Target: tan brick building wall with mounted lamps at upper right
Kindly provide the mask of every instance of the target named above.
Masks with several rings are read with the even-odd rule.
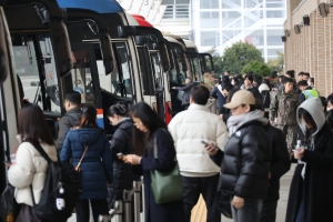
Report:
[[[323,97],[333,92],[333,10],[330,3],[329,0],[289,0],[283,37],[285,70],[309,72]]]

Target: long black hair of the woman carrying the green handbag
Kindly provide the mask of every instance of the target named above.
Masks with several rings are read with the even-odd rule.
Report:
[[[157,132],[158,129],[168,129],[162,118],[145,102],[139,102],[130,110],[131,118],[139,118],[148,132],[142,132],[134,128],[133,147],[138,154],[143,154],[147,141]]]

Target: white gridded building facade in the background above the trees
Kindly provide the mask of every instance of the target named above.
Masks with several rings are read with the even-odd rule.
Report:
[[[223,54],[233,43],[248,41],[265,60],[283,52],[285,0],[192,0],[191,14],[192,38],[200,51],[214,47]]]

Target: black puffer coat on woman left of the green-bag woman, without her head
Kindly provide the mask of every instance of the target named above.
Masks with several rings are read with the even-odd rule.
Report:
[[[125,119],[119,123],[111,141],[111,153],[113,160],[113,182],[109,186],[109,205],[114,200],[122,200],[123,190],[131,190],[133,181],[140,180],[139,175],[132,173],[132,165],[125,164],[119,160],[117,153],[131,154],[134,153],[132,145],[132,128],[133,123],[130,119]]]

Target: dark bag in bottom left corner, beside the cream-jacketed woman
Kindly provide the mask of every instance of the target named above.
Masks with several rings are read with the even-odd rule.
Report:
[[[2,221],[16,221],[21,211],[21,205],[16,201],[14,191],[16,188],[8,184],[1,194],[0,219]]]

